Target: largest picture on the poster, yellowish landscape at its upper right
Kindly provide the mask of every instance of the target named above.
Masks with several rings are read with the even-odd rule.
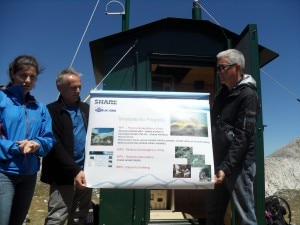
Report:
[[[207,114],[174,112],[170,121],[171,136],[208,137]]]

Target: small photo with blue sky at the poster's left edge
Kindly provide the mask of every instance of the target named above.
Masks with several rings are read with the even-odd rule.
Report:
[[[92,128],[91,145],[113,146],[114,128]]]

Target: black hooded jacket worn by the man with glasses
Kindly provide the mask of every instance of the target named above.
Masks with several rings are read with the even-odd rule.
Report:
[[[232,90],[223,86],[215,98],[211,126],[215,169],[226,176],[255,162],[255,129],[260,103],[255,80],[244,74]]]

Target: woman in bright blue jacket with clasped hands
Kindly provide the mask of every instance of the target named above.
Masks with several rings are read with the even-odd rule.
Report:
[[[45,105],[30,91],[41,73],[32,56],[9,66],[11,82],[0,91],[0,224],[22,225],[35,189],[40,157],[55,138]]]

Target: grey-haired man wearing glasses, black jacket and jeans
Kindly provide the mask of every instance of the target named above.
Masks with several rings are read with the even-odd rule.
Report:
[[[244,74],[245,58],[235,49],[217,55],[222,84],[211,112],[215,188],[209,191],[206,225],[222,225],[228,202],[240,225],[257,225],[253,182],[256,173],[255,127],[260,103],[256,82]]]

